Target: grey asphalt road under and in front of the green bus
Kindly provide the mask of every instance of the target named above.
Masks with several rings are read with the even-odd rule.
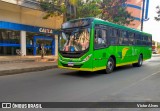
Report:
[[[140,68],[131,65],[118,67],[111,74],[105,74],[103,71],[89,73],[52,69],[0,76],[0,101],[160,102],[160,56],[145,61]],[[87,111],[94,110],[96,109],[87,109]],[[130,110],[132,111],[132,109],[126,111]]]

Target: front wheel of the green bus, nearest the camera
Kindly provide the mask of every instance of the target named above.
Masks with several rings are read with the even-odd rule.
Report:
[[[109,73],[113,72],[114,67],[115,67],[115,61],[113,60],[112,57],[110,57],[107,61],[106,73],[109,74]]]

